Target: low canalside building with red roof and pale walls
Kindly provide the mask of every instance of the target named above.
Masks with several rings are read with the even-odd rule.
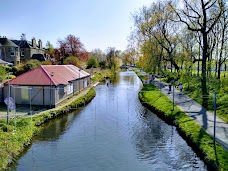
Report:
[[[90,84],[90,74],[74,65],[41,65],[9,81],[16,104],[54,107]],[[4,99],[8,82],[4,84]]]

